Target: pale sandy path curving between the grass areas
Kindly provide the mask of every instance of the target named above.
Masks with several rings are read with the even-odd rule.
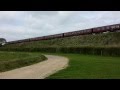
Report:
[[[43,62],[0,73],[0,79],[44,79],[68,66],[68,58],[45,55]]]

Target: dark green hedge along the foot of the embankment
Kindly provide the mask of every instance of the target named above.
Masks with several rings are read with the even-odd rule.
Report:
[[[43,48],[0,48],[1,51],[27,51],[48,53],[80,53],[101,56],[120,56],[120,47],[43,47]]]

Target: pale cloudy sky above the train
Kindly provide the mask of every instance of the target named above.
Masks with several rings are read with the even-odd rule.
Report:
[[[120,23],[120,11],[0,11],[0,38],[14,41]]]

